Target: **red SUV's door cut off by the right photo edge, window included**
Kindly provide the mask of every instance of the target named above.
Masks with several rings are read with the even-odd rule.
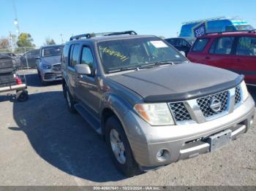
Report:
[[[244,74],[247,83],[256,84],[256,37],[239,36],[236,42],[234,71]]]

